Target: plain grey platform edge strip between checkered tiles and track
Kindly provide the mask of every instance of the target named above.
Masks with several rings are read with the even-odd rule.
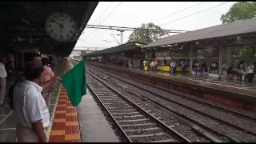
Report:
[[[77,110],[82,142],[119,142],[88,89]]]

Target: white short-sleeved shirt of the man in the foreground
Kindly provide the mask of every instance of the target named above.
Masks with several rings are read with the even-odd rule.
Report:
[[[18,125],[31,128],[31,123],[42,121],[43,127],[49,126],[50,114],[41,92],[41,86],[28,80],[14,87],[14,115]]]

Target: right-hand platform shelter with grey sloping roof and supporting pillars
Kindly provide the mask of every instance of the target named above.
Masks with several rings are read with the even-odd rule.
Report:
[[[194,74],[195,61],[206,61],[208,66],[211,62],[216,62],[217,77],[222,78],[223,70],[238,60],[239,54],[236,50],[255,46],[255,34],[256,19],[253,18],[171,35],[143,46],[142,51],[163,61],[160,62],[163,67],[170,66],[172,59],[189,60],[190,75]],[[252,53],[252,58],[255,60],[256,52],[252,51]],[[203,54],[207,58],[203,57]],[[249,60],[248,63],[252,63],[251,61]],[[168,71],[166,68],[162,70]]]

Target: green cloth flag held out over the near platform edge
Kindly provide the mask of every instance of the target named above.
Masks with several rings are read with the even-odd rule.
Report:
[[[62,76],[62,85],[66,89],[67,95],[73,106],[78,106],[82,96],[86,94],[85,72],[85,62],[82,60],[82,62],[79,62]]]

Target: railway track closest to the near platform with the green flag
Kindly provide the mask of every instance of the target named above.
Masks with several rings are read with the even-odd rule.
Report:
[[[122,132],[127,142],[190,142],[164,122],[143,110],[106,82],[88,73],[88,88],[110,118]]]

